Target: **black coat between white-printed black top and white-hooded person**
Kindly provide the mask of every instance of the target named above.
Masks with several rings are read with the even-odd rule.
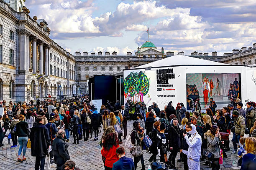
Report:
[[[168,140],[169,140],[169,148],[172,147],[173,149],[170,150],[171,152],[179,152],[179,134],[180,128],[179,125],[176,127],[172,124],[168,130]]]

